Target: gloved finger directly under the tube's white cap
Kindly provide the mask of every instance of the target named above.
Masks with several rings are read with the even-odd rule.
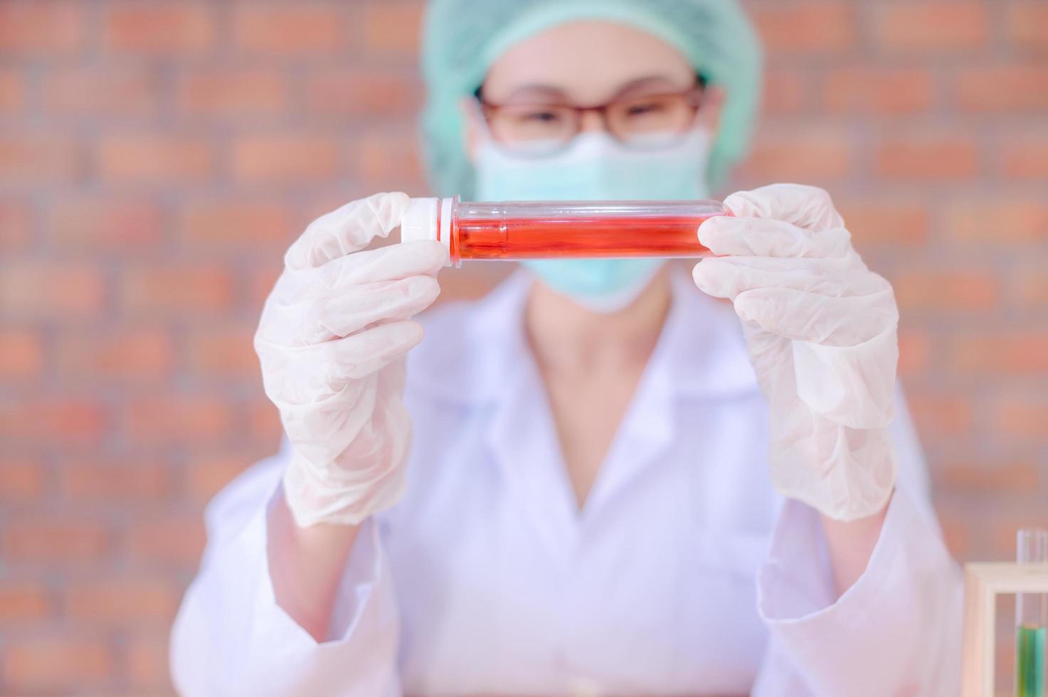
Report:
[[[355,292],[355,287],[412,276],[436,276],[447,262],[447,248],[440,242],[418,240],[365,249],[325,264],[316,274],[315,290]]]

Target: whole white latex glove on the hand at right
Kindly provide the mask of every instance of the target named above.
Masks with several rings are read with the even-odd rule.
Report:
[[[768,400],[776,488],[838,520],[878,513],[895,482],[898,310],[822,189],[773,184],[728,196],[699,241],[700,289],[742,320]]]

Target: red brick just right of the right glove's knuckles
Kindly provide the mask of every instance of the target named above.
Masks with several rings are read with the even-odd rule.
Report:
[[[892,285],[903,311],[977,312],[994,309],[1001,299],[997,275],[989,271],[908,273],[897,276]]]

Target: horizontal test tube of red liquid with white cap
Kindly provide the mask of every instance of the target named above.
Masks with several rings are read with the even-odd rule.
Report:
[[[720,201],[460,201],[415,198],[400,240],[437,240],[449,263],[610,257],[703,257],[698,230]]]

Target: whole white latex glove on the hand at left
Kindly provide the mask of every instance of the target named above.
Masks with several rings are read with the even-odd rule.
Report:
[[[439,295],[447,253],[439,242],[359,249],[408,202],[376,194],[314,220],[262,310],[255,350],[293,450],[284,496],[299,525],[359,523],[402,493],[403,355],[422,339],[410,318]]]

